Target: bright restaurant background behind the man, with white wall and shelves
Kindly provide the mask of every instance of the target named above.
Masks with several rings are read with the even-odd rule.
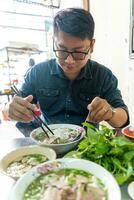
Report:
[[[4,119],[2,107],[12,98],[10,84],[20,86],[29,68],[29,59],[38,63],[54,56],[52,20],[54,14],[65,7],[83,7],[93,14],[96,44],[92,59],[109,67],[118,77],[133,124],[134,0],[0,1],[1,120]]]

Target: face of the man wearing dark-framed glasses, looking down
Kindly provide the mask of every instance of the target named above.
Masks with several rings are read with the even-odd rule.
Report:
[[[59,56],[57,58],[57,62],[60,67],[63,69],[65,75],[67,77],[70,76],[77,76],[81,69],[85,66],[90,55],[93,51],[94,40],[89,39],[80,39],[78,37],[70,36],[67,33],[59,31],[58,34],[54,37],[54,49],[60,50],[59,54],[62,54],[62,51],[69,51],[69,52],[84,52],[83,54],[84,59],[76,60],[75,56],[73,58],[73,54],[68,54],[66,58],[61,58]]]

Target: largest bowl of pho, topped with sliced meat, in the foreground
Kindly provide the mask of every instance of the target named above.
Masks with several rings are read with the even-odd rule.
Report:
[[[63,158],[26,173],[9,200],[121,200],[120,188],[106,169],[91,161]]]

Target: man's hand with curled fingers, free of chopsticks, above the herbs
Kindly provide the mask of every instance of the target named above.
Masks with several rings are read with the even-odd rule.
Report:
[[[107,121],[112,118],[113,110],[111,106],[105,99],[100,97],[95,97],[90,104],[88,104],[87,109],[89,114],[86,121],[99,123],[103,120]]]

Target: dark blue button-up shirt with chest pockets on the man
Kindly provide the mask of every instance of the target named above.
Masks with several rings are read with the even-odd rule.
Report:
[[[23,95],[33,95],[33,102],[39,103],[48,123],[80,125],[87,117],[87,105],[96,96],[106,99],[114,108],[127,110],[117,78],[111,70],[91,60],[73,81],[64,75],[55,59],[30,68],[24,80]]]

